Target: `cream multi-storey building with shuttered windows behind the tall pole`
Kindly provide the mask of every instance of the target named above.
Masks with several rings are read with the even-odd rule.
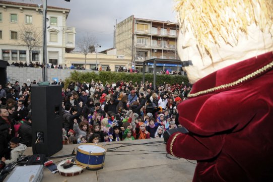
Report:
[[[40,5],[0,1],[0,59],[42,63],[42,12]],[[65,52],[75,48],[75,27],[66,26],[69,13],[47,6],[47,63],[63,64]],[[29,51],[28,45],[35,46]]]

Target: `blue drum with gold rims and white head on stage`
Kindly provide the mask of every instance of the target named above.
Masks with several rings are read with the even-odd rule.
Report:
[[[103,146],[83,143],[77,147],[76,163],[87,169],[101,169],[104,165],[106,148]]]

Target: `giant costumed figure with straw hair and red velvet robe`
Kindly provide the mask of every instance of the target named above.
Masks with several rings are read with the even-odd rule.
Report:
[[[197,161],[193,181],[273,180],[273,1],[178,1],[190,83],[167,152]]]

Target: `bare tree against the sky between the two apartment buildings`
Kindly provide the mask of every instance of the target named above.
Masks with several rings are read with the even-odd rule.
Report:
[[[80,50],[82,54],[85,55],[85,69],[86,69],[86,56],[90,52],[90,48],[96,44],[96,38],[93,36],[89,36],[88,34],[82,36],[77,43],[76,46]]]

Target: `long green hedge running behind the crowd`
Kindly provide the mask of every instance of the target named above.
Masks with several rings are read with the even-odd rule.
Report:
[[[77,72],[74,71],[71,73],[71,76],[69,78],[65,79],[64,87],[67,88],[69,83],[71,82],[77,82],[80,83],[85,82],[91,82],[92,79],[96,81],[101,81],[102,83],[111,83],[111,82],[117,82],[117,81],[132,81],[140,83],[142,81],[143,74],[130,74],[130,73],[123,73],[123,72],[105,72],[101,71],[99,73],[95,72]],[[145,81],[148,80],[148,82],[153,83],[153,74],[145,74]],[[180,76],[180,75],[157,75],[157,85],[163,84],[163,83],[188,83],[188,79],[186,76]]]

